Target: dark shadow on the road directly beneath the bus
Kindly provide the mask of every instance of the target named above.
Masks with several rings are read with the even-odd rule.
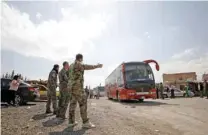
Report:
[[[169,99],[164,99],[164,100],[169,100]],[[112,100],[113,102],[118,102],[116,100]],[[131,107],[135,107],[135,106],[160,106],[160,105],[178,105],[178,104],[169,104],[169,103],[163,103],[163,102],[159,102],[159,101],[143,101],[143,102],[139,102],[139,101],[122,101],[120,102],[123,105],[128,105]]]

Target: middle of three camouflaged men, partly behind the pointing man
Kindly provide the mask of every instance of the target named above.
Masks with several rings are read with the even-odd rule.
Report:
[[[56,114],[57,118],[65,119],[66,110],[69,105],[69,87],[68,87],[68,70],[69,70],[69,63],[63,62],[63,68],[59,72],[59,91],[60,91],[60,98],[59,98],[59,106],[58,111]]]

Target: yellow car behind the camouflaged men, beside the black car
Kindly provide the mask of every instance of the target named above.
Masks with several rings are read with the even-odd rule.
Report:
[[[41,84],[36,84],[40,91],[40,98],[41,100],[47,100],[47,87]],[[56,96],[59,97],[59,87],[56,89]]]

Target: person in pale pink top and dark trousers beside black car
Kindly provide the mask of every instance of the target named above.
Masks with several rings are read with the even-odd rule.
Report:
[[[20,77],[18,75],[15,75],[12,79],[12,82],[10,83],[10,87],[8,91],[9,93],[9,97],[7,100],[8,104],[11,105],[11,101],[12,101],[12,105],[16,106],[15,98],[16,98],[19,85],[20,85]]]

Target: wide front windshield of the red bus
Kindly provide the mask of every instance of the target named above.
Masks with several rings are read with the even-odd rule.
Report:
[[[126,81],[154,80],[152,69],[148,64],[127,64],[125,73]]]

